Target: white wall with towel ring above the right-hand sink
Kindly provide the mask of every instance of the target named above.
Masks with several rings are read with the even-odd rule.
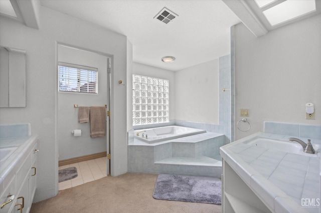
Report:
[[[235,27],[235,120],[249,108],[252,127],[236,128],[236,139],[263,131],[263,121],[321,123],[321,15],[255,37],[244,24]],[[305,119],[305,103],[315,119]]]

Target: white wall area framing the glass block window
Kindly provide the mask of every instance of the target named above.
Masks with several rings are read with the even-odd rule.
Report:
[[[162,69],[162,68],[157,68],[154,66],[149,66],[137,62],[133,62],[132,64],[132,73],[133,74],[140,74],[144,76],[150,76],[150,77],[157,77],[157,78],[162,78],[162,79],[168,79],[170,82],[170,120],[175,119],[175,105],[176,105],[176,98],[175,98],[175,88],[176,88],[176,83],[175,83],[175,76],[174,76],[174,71],[170,71],[167,69]],[[132,85],[130,84],[130,88],[132,88]],[[131,97],[132,97],[132,91],[130,91]],[[132,100],[130,99],[130,102],[128,102],[128,107],[130,108],[130,121],[132,122],[132,116],[131,116],[131,111],[132,111]]]

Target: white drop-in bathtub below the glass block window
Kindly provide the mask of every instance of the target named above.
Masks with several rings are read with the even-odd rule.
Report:
[[[156,128],[137,129],[134,130],[134,137],[147,143],[154,143],[204,132],[206,132],[206,130],[170,125]],[[139,133],[139,135],[137,135],[137,133]],[[142,137],[142,135],[144,135],[144,137]]]

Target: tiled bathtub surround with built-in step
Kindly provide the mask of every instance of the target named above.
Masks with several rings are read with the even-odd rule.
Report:
[[[168,173],[182,175],[221,175],[219,148],[224,145],[224,135],[206,132],[197,135],[145,143],[131,139],[128,133],[128,171]]]

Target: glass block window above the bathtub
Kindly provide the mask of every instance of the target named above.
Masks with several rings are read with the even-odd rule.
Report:
[[[132,75],[132,125],[169,122],[169,80]]]

